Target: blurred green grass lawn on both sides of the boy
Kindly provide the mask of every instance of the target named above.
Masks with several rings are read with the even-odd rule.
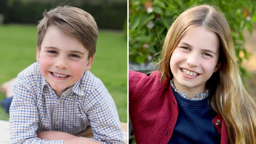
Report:
[[[36,61],[36,40],[35,25],[0,25],[0,85]],[[112,95],[120,121],[127,122],[127,40],[121,32],[99,30],[91,72]],[[1,106],[0,120],[9,120]]]

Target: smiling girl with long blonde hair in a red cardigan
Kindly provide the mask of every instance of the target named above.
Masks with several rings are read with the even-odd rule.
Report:
[[[159,70],[129,71],[136,143],[256,143],[256,105],[240,77],[231,31],[209,5],[192,7],[167,32]]]

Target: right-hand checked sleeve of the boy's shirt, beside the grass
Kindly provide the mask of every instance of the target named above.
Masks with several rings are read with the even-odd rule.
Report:
[[[88,100],[87,114],[95,140],[107,144],[125,144],[116,105],[105,86],[99,84]]]

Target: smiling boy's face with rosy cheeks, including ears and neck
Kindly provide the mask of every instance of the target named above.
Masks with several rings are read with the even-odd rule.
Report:
[[[85,71],[91,69],[93,58],[75,38],[55,26],[49,26],[41,44],[36,49],[39,70],[54,92],[61,94],[79,81]]]

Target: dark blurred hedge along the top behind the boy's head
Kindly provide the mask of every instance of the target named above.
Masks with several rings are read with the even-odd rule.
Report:
[[[44,10],[68,4],[93,15],[99,28],[123,29],[127,22],[127,0],[1,0],[5,23],[36,24]],[[7,3],[7,5],[5,4]],[[7,8],[6,8],[7,7]],[[2,10],[2,11],[1,11]]]

